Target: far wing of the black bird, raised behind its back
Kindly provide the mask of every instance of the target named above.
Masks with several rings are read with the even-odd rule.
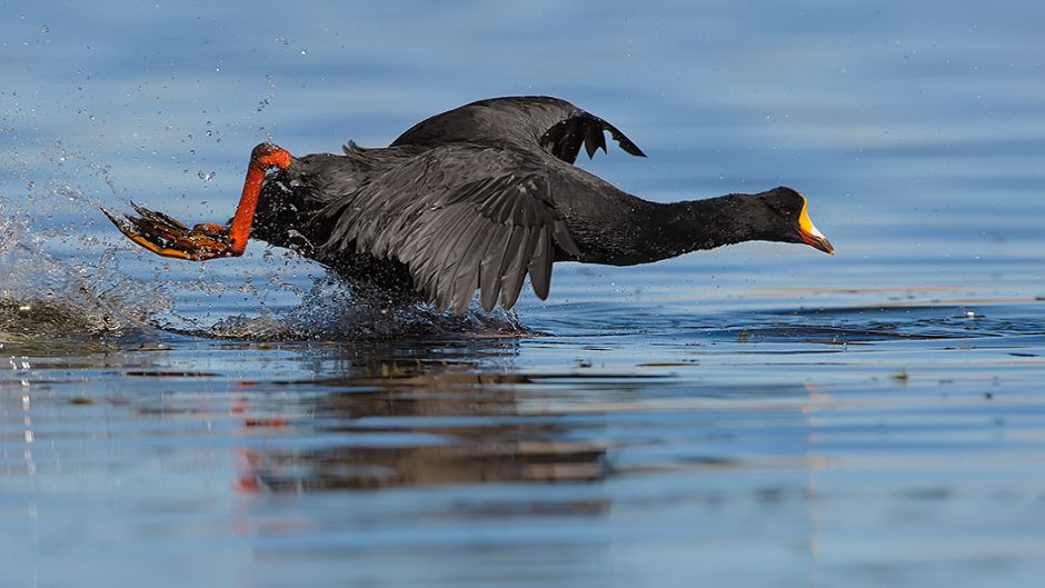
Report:
[[[606,151],[610,136],[633,156],[645,153],[619,129],[574,104],[543,96],[480,100],[426,119],[392,142],[398,146],[435,147],[451,142],[525,143],[536,140],[555,157],[573,163],[581,143],[588,157],[597,149]]]

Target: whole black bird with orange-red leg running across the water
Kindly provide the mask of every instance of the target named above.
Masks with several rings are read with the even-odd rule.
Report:
[[[750,240],[834,252],[790,188],[657,203],[574,167],[581,147],[589,157],[606,151],[607,131],[645,157],[565,100],[494,98],[421,121],[387,148],[349,142],[342,156],[295,158],[261,143],[228,226],[189,229],[138,206],[138,217],[106,213],[161,256],[239,256],[252,236],[455,311],[477,289],[484,309],[498,298],[510,309],[527,275],[545,299],[555,261],[631,266]]]

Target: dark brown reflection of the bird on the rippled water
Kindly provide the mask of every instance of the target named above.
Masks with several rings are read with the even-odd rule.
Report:
[[[522,408],[527,376],[421,359],[354,362],[318,382],[300,444],[246,450],[245,489],[300,492],[600,480],[606,447],[568,439],[554,412]]]

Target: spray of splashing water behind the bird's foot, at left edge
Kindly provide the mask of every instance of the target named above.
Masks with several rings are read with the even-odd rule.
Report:
[[[109,190],[108,168],[82,162],[60,142],[7,153],[0,177],[0,347],[36,352],[97,351],[140,340],[149,315],[169,305],[161,293],[123,276],[90,230],[84,210],[100,200],[80,185],[83,171]],[[34,161],[47,161],[41,166]],[[76,166],[72,179],[68,167]],[[48,169],[41,176],[39,169]],[[102,190],[104,191],[104,190]]]

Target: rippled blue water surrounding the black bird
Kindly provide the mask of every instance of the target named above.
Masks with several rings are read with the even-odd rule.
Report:
[[[1034,586],[1034,2],[0,2],[0,585]],[[516,317],[375,316],[253,243],[250,148],[545,93],[668,201],[802,190],[838,249],[556,267]],[[530,335],[520,335],[529,332]],[[534,333],[538,333],[535,336]]]

